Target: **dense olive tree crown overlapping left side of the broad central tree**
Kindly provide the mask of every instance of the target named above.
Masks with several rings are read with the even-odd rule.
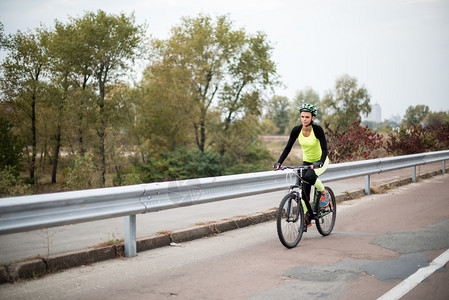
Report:
[[[195,139],[191,128],[196,110],[189,84],[183,68],[155,61],[146,69],[135,91],[136,133],[153,151],[174,151]]]

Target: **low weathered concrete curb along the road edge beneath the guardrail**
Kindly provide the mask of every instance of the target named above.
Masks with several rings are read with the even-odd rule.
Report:
[[[442,171],[432,171],[417,176],[417,179],[430,178],[442,174]],[[399,179],[375,187],[380,189],[391,189],[412,183],[411,178]],[[372,189],[373,191],[375,188]],[[336,195],[337,202],[351,200],[365,196],[364,189],[357,189],[352,192]],[[170,243],[182,243],[208,236],[213,236],[222,232],[235,230],[251,225],[267,222],[276,218],[276,210],[271,209],[258,212],[252,215],[238,216],[231,219],[212,221],[207,224],[181,229],[164,234],[140,238],[137,240],[137,252],[151,250],[155,248],[169,246]],[[0,266],[0,284],[13,283],[23,279],[37,279],[43,275],[66,270],[73,267],[90,265],[96,262],[115,258],[124,258],[124,245],[114,244],[99,246],[96,248],[79,250],[69,253],[52,255],[48,258],[36,257],[34,259],[14,262],[6,266]]]

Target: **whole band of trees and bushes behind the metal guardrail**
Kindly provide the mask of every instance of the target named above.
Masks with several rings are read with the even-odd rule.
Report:
[[[347,74],[321,98],[275,95],[268,36],[229,16],[150,30],[102,10],[8,35],[0,23],[1,197],[270,170],[302,103],[334,163],[448,149],[448,113],[425,105],[362,123],[371,98]]]

